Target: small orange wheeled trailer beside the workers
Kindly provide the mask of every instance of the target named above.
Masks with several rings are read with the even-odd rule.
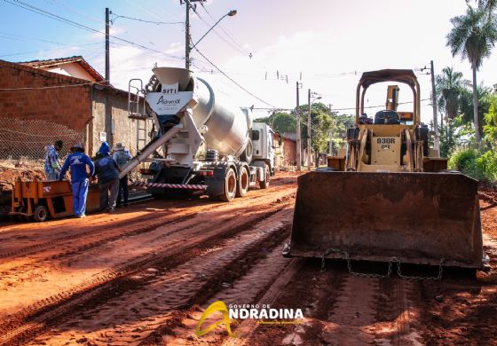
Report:
[[[99,186],[90,185],[86,200],[87,211],[99,210]],[[20,181],[12,189],[12,219],[34,219],[36,222],[48,218],[73,215],[73,192],[71,184],[64,181]]]

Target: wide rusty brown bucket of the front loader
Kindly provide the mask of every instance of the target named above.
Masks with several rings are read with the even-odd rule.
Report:
[[[451,172],[307,173],[284,256],[481,268],[477,181]]]

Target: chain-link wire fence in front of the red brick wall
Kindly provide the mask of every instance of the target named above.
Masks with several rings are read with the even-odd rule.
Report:
[[[58,139],[64,142],[60,157],[67,155],[72,145],[84,145],[83,132],[56,122],[0,118],[0,159],[44,159],[45,146]]]

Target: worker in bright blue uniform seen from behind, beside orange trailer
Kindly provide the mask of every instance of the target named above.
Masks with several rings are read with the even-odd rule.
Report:
[[[93,162],[84,153],[83,145],[76,144],[71,147],[71,154],[67,156],[59,180],[66,175],[67,169],[71,169],[71,188],[73,190],[73,209],[76,217],[84,217],[86,211],[86,196],[88,195],[88,177],[93,175]],[[86,171],[86,166],[90,172]]]

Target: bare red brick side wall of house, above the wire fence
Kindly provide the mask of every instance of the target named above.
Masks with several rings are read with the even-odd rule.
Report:
[[[0,60],[0,116],[58,122],[72,130],[86,130],[91,120],[90,86],[20,89],[82,83],[88,81]]]

